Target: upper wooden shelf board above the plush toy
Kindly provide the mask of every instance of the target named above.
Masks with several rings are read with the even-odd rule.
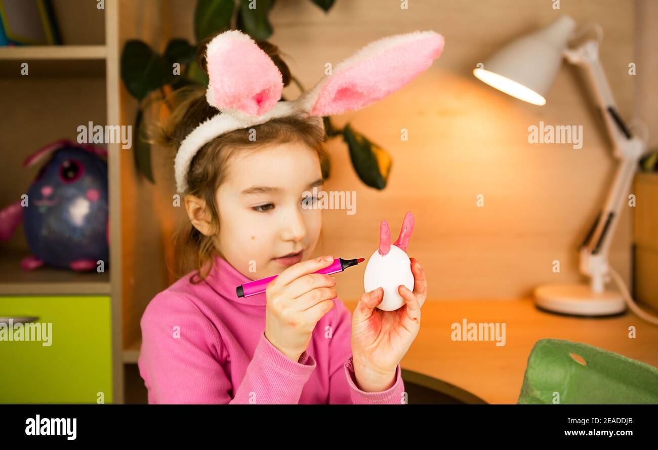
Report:
[[[16,45],[0,47],[0,60],[105,59],[105,45]]]

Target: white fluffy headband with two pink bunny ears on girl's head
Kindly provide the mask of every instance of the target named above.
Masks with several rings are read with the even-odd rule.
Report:
[[[274,61],[238,30],[219,34],[206,49],[206,99],[218,114],[180,144],[174,162],[176,189],[186,191],[192,158],[215,137],[297,111],[321,118],[365,108],[424,72],[441,55],[443,42],[433,31],[382,37],[342,61],[296,100],[279,101],[284,84]]]

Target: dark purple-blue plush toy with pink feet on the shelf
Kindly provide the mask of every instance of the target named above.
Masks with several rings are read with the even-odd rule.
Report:
[[[27,199],[0,211],[0,241],[7,241],[22,219],[32,256],[24,270],[43,264],[76,271],[109,266],[107,151],[66,139],[39,149],[23,162],[47,159],[28,189]]]

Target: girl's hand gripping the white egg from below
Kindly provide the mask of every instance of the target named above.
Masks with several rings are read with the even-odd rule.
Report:
[[[361,295],[352,315],[352,355],[359,388],[385,391],[395,382],[395,369],[420,330],[420,307],[427,298],[427,281],[420,263],[411,260],[413,292],[401,284],[397,291],[405,305],[396,311],[376,309],[384,289]]]

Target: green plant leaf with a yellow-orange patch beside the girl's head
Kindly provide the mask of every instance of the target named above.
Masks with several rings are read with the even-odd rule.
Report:
[[[349,124],[343,128],[343,140],[349,147],[349,157],[361,181],[375,189],[384,189],[393,162],[390,155]]]

